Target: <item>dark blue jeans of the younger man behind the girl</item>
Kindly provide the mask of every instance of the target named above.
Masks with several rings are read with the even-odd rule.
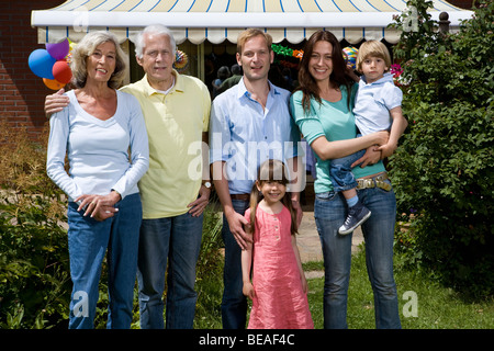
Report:
[[[249,207],[248,201],[232,200],[235,212],[244,215]],[[223,215],[223,242],[225,244],[225,267],[223,269],[223,299],[222,321],[223,329],[245,329],[247,321],[247,298],[242,288],[242,249],[229,231],[228,222]]]

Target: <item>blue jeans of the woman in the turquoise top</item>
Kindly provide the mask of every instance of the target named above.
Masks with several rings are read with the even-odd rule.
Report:
[[[388,181],[389,182],[389,181]],[[393,237],[396,200],[393,190],[379,188],[358,190],[372,216],[362,224],[366,262],[374,295],[377,328],[401,328],[396,285],[393,278]],[[316,194],[314,217],[323,246],[324,327],[347,328],[347,298],[351,264],[351,234],[338,235],[347,216],[341,194]]]

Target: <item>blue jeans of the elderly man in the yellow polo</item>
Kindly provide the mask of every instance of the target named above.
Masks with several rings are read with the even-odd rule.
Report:
[[[193,217],[189,213],[143,219],[137,272],[142,329],[165,327],[162,294],[167,265],[166,328],[193,328],[198,299],[195,264],[201,249],[202,222],[203,215]]]

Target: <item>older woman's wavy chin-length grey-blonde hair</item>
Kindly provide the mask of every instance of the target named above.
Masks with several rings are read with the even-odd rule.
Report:
[[[122,86],[125,78],[125,54],[120,47],[119,39],[115,34],[106,31],[97,31],[86,34],[86,36],[76,45],[71,55],[72,60],[70,68],[72,70],[72,84],[76,88],[83,88],[88,79],[88,69],[86,67],[87,58],[94,53],[96,48],[103,43],[112,42],[115,44],[115,70],[108,81],[108,86],[117,89]]]

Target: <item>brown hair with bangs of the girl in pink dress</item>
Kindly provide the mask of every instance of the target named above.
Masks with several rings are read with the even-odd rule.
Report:
[[[254,235],[256,228],[256,211],[257,205],[262,200],[262,194],[257,189],[257,185],[262,185],[266,181],[274,181],[288,185],[290,182],[288,179],[288,169],[284,163],[280,160],[267,160],[260,167],[258,171],[258,177],[256,183],[252,185],[252,190],[250,191],[250,233]],[[283,199],[281,200],[282,204],[289,210],[292,224],[290,226],[290,233],[295,235],[297,233],[296,228],[296,213],[292,206],[292,200],[289,192],[284,193]]]

